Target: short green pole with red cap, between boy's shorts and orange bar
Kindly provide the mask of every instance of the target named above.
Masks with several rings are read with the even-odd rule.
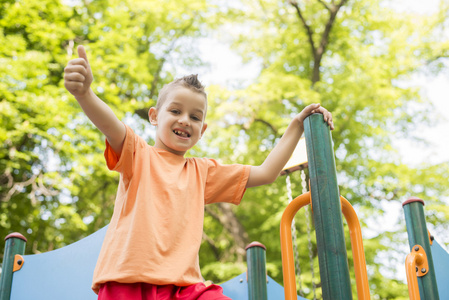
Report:
[[[267,300],[268,298],[265,250],[265,246],[259,242],[252,242],[246,246],[249,300]]]

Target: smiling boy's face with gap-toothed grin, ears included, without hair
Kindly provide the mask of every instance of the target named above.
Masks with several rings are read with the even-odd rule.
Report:
[[[155,147],[184,155],[200,140],[207,124],[206,99],[185,87],[176,87],[167,94],[159,110],[152,107],[148,113],[156,126]]]

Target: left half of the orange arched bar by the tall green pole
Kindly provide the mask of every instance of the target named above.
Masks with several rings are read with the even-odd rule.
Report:
[[[296,197],[285,209],[281,219],[282,272],[286,300],[296,300],[295,260],[292,243],[292,221],[302,207],[310,203],[310,192]]]

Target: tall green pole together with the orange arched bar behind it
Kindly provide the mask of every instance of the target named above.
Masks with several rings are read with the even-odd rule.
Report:
[[[296,212],[311,203],[317,236],[323,299],[352,299],[341,209],[348,220],[359,299],[369,299],[368,276],[360,225],[349,202],[340,197],[330,130],[321,114],[304,122],[311,192],[293,200],[281,221],[285,299],[296,298],[291,222]],[[341,201],[341,202],[340,202]]]

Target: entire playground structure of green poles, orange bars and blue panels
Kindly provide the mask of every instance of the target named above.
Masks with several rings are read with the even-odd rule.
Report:
[[[265,246],[252,243],[247,247],[247,272],[221,284],[232,299],[304,299],[296,294],[291,223],[296,212],[308,204],[313,208],[323,299],[352,299],[340,211],[350,231],[358,298],[370,297],[360,225],[352,206],[339,195],[332,140],[322,115],[306,119],[305,135],[311,191],[292,200],[282,216],[285,291],[266,275]],[[409,199],[403,205],[411,247],[406,260],[410,299],[449,299],[449,254],[429,239],[423,204],[420,199]],[[69,246],[37,255],[24,255],[25,237],[8,235],[0,300],[96,299],[90,286],[105,233],[106,227]]]

